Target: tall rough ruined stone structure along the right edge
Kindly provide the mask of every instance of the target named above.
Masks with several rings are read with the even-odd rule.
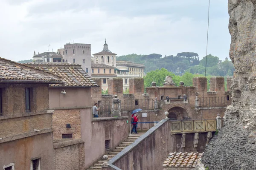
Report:
[[[229,0],[230,59],[236,71],[223,129],[202,157],[210,170],[256,169],[256,0]]]

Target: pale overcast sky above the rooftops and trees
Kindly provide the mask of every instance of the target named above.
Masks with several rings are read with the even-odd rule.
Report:
[[[14,61],[67,42],[91,53],[206,55],[208,0],[1,0],[0,57]],[[229,55],[227,0],[211,0],[208,54]]]

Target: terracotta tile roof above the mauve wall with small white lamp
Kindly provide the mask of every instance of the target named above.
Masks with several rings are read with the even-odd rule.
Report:
[[[40,70],[47,71],[54,74],[65,82],[64,85],[54,84],[51,86],[84,86],[84,87],[98,87],[97,83],[81,68],[81,65],[68,63],[28,63]]]

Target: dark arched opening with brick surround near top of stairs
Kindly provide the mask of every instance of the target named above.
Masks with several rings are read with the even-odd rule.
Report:
[[[169,119],[173,120],[183,120],[189,119],[189,112],[183,106],[172,106],[168,109]]]

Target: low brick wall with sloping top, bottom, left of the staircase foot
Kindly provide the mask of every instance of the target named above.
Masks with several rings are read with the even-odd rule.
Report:
[[[84,170],[84,141],[81,139],[54,140],[55,170]]]

